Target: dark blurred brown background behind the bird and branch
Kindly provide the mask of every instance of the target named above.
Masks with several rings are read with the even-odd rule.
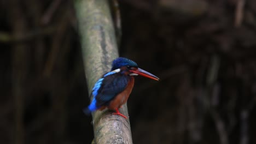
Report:
[[[113,3],[113,1],[110,1]],[[256,1],[122,0],[134,143],[256,143]],[[91,143],[73,1],[0,1],[0,143]]]

